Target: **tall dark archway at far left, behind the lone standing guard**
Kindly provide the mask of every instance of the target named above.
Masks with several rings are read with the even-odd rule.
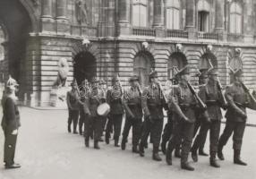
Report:
[[[26,45],[32,31],[30,15],[20,0],[0,0],[0,21],[5,27],[8,40],[4,39],[4,80],[11,74],[21,83],[26,72]],[[7,69],[6,69],[7,68]],[[3,77],[2,77],[3,78]],[[22,85],[22,83],[21,83]]]

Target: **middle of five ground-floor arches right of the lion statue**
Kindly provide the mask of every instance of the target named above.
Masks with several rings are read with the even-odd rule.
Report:
[[[185,65],[187,65],[187,58],[183,53],[175,52],[170,56],[167,65],[167,77],[168,79],[173,78],[173,68],[177,67],[179,70],[182,69]]]

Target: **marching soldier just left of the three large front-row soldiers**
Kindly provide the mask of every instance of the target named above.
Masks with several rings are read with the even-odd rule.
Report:
[[[166,108],[166,101],[163,98],[163,91],[158,82],[158,72],[149,73],[149,86],[146,87],[141,96],[141,105],[144,111],[144,124],[141,134],[140,155],[144,157],[144,147],[147,143],[149,132],[153,143],[153,160],[161,161],[158,155],[158,148],[163,130],[164,114],[163,108]]]

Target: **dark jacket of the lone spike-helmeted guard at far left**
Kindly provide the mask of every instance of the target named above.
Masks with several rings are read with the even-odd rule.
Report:
[[[15,99],[4,96],[2,99],[3,118],[2,127],[5,130],[16,130],[21,126],[20,113]]]

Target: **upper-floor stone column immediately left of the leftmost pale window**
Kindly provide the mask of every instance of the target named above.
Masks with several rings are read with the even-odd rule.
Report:
[[[119,10],[119,28],[120,34],[129,35],[130,34],[130,0],[119,0],[118,10]]]

